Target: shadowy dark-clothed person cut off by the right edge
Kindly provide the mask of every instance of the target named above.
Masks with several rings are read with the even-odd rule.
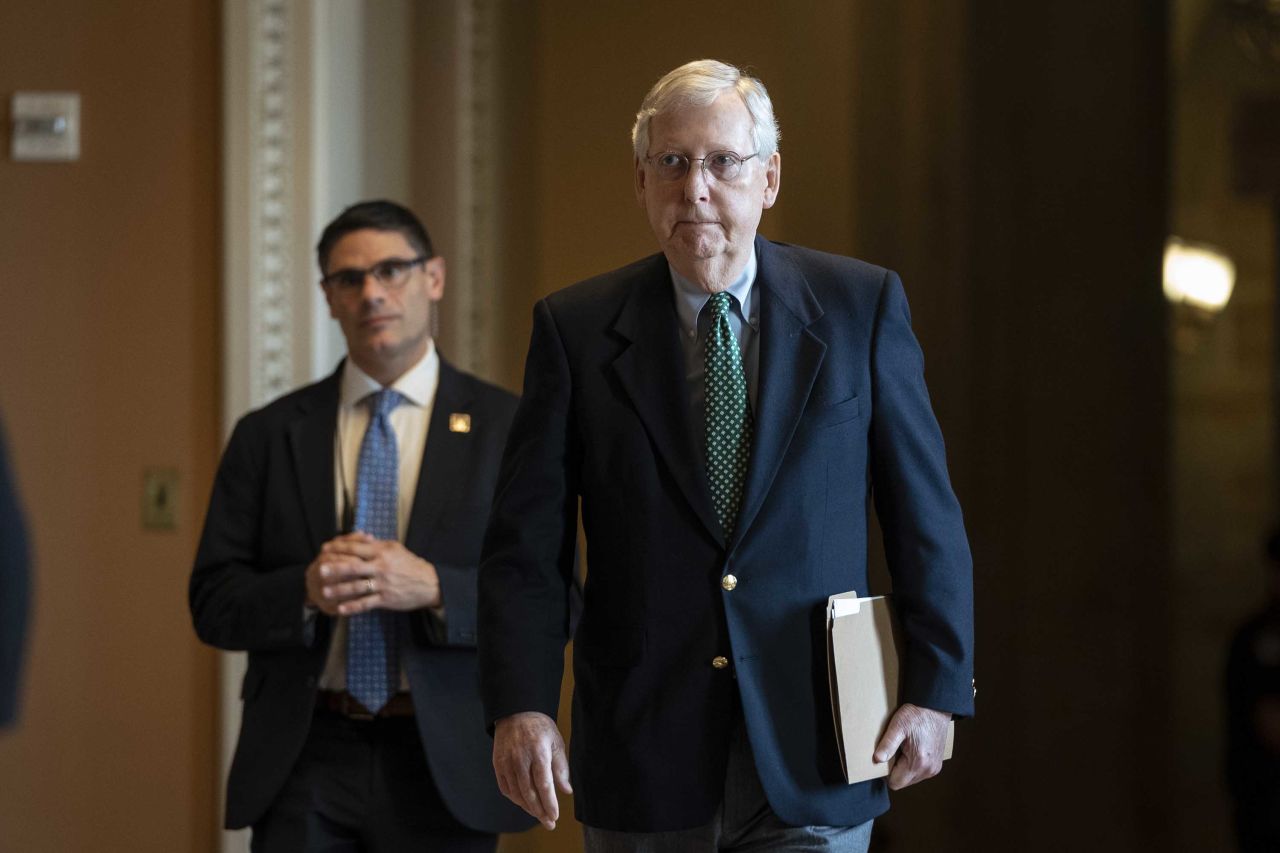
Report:
[[[1226,781],[1242,853],[1280,850],[1280,528],[1265,543],[1267,603],[1231,638]]]

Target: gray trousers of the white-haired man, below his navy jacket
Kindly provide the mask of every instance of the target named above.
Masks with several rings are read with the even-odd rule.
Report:
[[[716,850],[787,850],[867,853],[872,821],[859,826],[788,826],[769,808],[740,721],[728,752],[724,799],[704,826],[671,833],[616,833],[582,827],[586,853],[713,853]]]

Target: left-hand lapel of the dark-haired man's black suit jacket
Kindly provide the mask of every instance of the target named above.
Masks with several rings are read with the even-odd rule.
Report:
[[[334,432],[338,424],[338,382],[342,366],[300,397],[298,416],[289,424],[289,450],[298,484],[298,502],[315,551],[338,529],[333,511]]]

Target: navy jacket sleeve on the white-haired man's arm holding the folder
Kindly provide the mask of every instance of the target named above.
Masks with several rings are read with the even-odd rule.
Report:
[[[973,561],[924,384],[924,356],[895,273],[882,284],[870,368],[872,493],[905,638],[902,701],[968,716]]]

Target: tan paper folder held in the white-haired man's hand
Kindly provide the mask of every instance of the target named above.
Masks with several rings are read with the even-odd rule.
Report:
[[[847,592],[827,599],[827,678],[845,779],[854,784],[887,776],[888,762],[872,760],[897,710],[897,644],[886,596],[859,598]],[[954,738],[952,722],[943,758],[951,757]]]

